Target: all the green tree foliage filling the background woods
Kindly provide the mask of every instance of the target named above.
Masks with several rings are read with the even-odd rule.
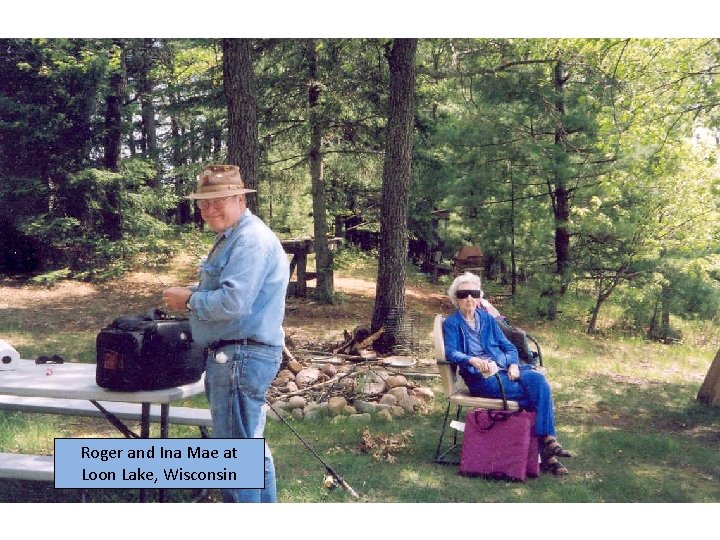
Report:
[[[311,124],[322,131],[328,228],[355,214],[377,226],[388,43],[251,40],[258,201],[283,237],[313,234]],[[143,250],[163,253],[169,224],[199,223],[181,197],[202,164],[226,159],[219,40],[0,46],[3,271],[115,275]],[[414,248],[449,261],[464,244],[480,246],[486,283],[514,282],[529,313],[559,306],[572,319],[593,310],[614,319],[622,309],[617,324],[643,332],[664,295],[673,320],[715,317],[717,40],[423,39],[417,58]],[[312,111],[311,84],[320,90]],[[106,100],[116,91],[125,97],[122,158],[111,172]],[[139,120],[148,107],[155,149]],[[557,207],[562,190],[567,216]],[[439,209],[449,222],[433,220]],[[570,235],[562,276],[560,226]],[[592,300],[563,307],[553,295],[565,287]]]

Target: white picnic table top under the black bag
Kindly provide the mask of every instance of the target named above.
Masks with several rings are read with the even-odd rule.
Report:
[[[48,375],[48,370],[51,370],[50,375]],[[16,370],[0,371],[0,394],[10,396],[94,399],[127,403],[170,403],[204,391],[202,378],[192,384],[164,390],[140,392],[106,390],[95,383],[95,364],[72,362],[36,364],[34,360],[19,360]]]

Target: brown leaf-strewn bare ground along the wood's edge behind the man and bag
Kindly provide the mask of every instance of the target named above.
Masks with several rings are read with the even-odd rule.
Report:
[[[190,261],[176,260],[166,271],[138,270],[103,284],[63,281],[44,287],[0,279],[0,328],[21,328],[30,334],[43,330],[96,332],[120,315],[161,307],[163,283],[187,283],[193,273]],[[328,346],[342,340],[343,330],[370,324],[375,282],[337,274],[335,289],[341,293],[335,305],[318,304],[311,298],[288,299],[285,329],[290,342],[309,348]],[[430,284],[407,287],[408,309],[421,340],[429,341],[434,314],[446,313],[451,307],[438,291]]]

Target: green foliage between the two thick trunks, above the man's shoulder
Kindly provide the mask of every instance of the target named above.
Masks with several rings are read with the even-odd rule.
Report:
[[[307,51],[318,53],[311,80]],[[382,100],[386,62],[378,40],[261,41],[256,58],[260,106],[260,202],[275,229],[312,234],[308,86],[320,89],[313,120],[321,128],[329,229],[335,215],[378,221],[382,176]],[[380,61],[378,61],[380,59]]]

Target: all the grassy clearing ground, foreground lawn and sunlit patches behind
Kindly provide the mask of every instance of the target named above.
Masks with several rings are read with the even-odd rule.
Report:
[[[164,275],[166,283],[172,279]],[[365,283],[365,286],[362,284]],[[286,328],[302,343],[332,339],[342,329],[367,324],[374,283],[338,273],[343,300],[323,307],[309,300],[289,304]],[[23,357],[60,353],[74,361],[94,360],[94,339],[118,315],[159,304],[162,286],[135,273],[102,286],[62,284],[54,289],[0,282],[0,336]],[[128,291],[134,290],[135,294]],[[417,313],[420,355],[431,358],[431,321],[448,312],[442,288],[413,279],[411,309]],[[332,319],[332,324],[328,321]],[[522,321],[514,321],[523,326]],[[330,328],[332,327],[332,328]],[[591,337],[582,324],[526,326],[543,347],[554,391],[559,439],[575,452],[564,459],[570,475],[541,476],[525,483],[466,478],[457,468],[433,463],[445,400],[439,381],[436,399],[422,414],[369,423],[329,418],[294,422],[296,429],[364,503],[717,503],[720,501],[720,408],[695,400],[720,347],[720,332],[685,332],[683,345],[639,339]],[[709,330],[708,330],[709,328]],[[334,334],[333,334],[334,332]],[[1,375],[1,373],[0,373]],[[186,404],[204,406],[204,397]],[[292,420],[290,420],[293,422]],[[367,430],[367,432],[365,432]],[[373,456],[362,450],[363,433],[394,439],[392,451]],[[173,427],[175,437],[197,430]],[[52,453],[54,437],[109,437],[108,424],[85,418],[0,412],[0,451]],[[285,503],[349,503],[341,489],[323,487],[322,464],[281,423],[270,421],[266,437]],[[171,494],[187,501],[190,491]],[[136,493],[95,490],[97,502],[135,500]],[[32,482],[0,482],[0,502],[75,502],[80,493]],[[211,492],[211,500],[217,494]]]

